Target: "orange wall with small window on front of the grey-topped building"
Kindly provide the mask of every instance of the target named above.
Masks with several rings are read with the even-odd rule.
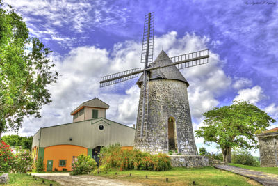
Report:
[[[62,171],[63,168],[71,171],[72,157],[81,154],[87,155],[87,153],[88,149],[82,146],[58,145],[46,147],[44,148],[44,169],[47,170],[47,160],[53,160],[52,171],[54,171],[54,168],[58,169],[58,171]],[[67,160],[66,166],[60,167],[59,160]]]

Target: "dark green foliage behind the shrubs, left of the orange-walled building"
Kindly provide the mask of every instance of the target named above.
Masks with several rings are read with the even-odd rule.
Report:
[[[2,140],[10,146],[21,146],[23,149],[32,150],[33,137],[19,137],[19,135],[3,136]]]

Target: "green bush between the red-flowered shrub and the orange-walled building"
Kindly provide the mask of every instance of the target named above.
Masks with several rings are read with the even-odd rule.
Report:
[[[33,158],[30,150],[19,150],[19,153],[15,156],[15,162],[13,171],[17,173],[26,173],[31,170],[33,164]]]

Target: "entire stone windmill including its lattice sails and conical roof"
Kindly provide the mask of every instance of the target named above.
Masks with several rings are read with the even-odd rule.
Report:
[[[142,76],[134,148],[150,153],[177,150],[181,155],[197,155],[190,117],[186,79],[179,69],[208,63],[208,49],[169,58],[164,51],[152,63],[154,13],[145,15],[141,63],[134,68],[101,77],[100,86],[109,86]]]

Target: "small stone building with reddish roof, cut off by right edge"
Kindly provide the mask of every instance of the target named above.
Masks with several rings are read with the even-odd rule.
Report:
[[[278,166],[278,127],[256,134],[261,166]]]

